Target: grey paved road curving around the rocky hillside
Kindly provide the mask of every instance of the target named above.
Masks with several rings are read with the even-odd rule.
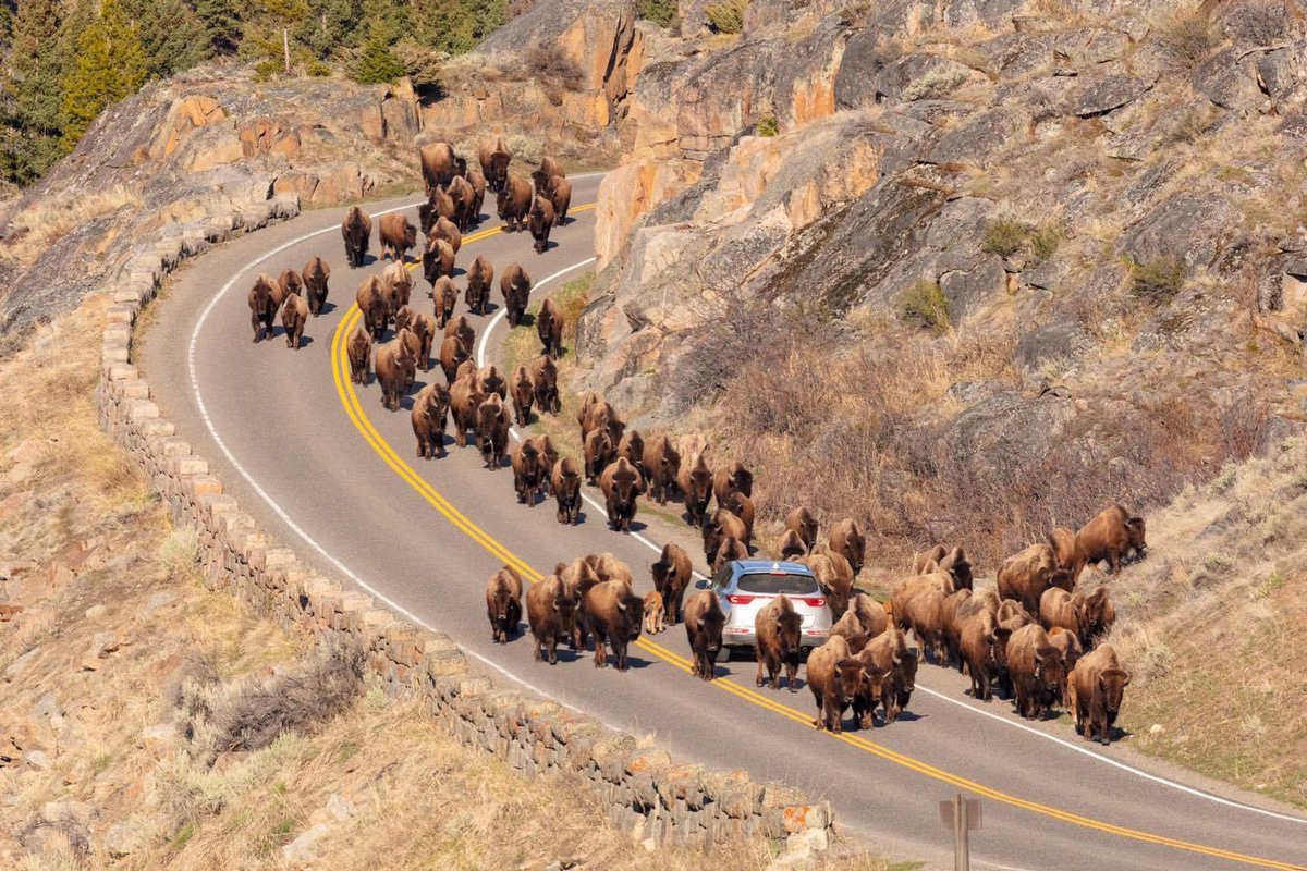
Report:
[[[572,201],[591,202],[596,189],[596,178],[578,179]],[[408,208],[416,221],[414,202],[371,210]],[[1171,770],[1132,753],[1128,743],[1100,751],[1065,726],[1017,721],[1006,703],[972,704],[955,673],[933,666],[923,665],[910,713],[898,723],[835,738],[812,729],[806,689],[755,689],[752,662],[719,666],[725,679],[712,684],[687,676],[680,627],[634,649],[626,674],[570,656],[554,667],[536,663],[520,639],[491,644],[482,590],[506,559],[520,560],[528,575],[548,573],[558,560],[608,550],[647,578],[655,555],[646,542],[676,539],[699,555],[702,548],[685,528],[656,518],[637,524],[639,538],[612,533],[593,505],[579,526],[559,526],[550,503],[519,505],[511,470],[484,469],[474,449],[417,460],[406,411],[386,411],[375,384],[340,384],[341,363],[331,359],[358,282],[382,266],[350,272],[341,215],[310,212],[192,261],[170,283],[141,346],[165,413],[229,491],[318,568],[448,632],[485,667],[613,726],[652,734],[680,759],[745,768],[825,795],[843,825],[893,855],[949,862],[951,841],[936,802],[962,789],[984,799],[975,867],[1307,866],[1307,823],[1291,811]],[[592,221],[593,212],[575,213],[545,255],[531,251],[525,234],[491,234],[469,242],[459,260],[465,265],[484,253],[497,273],[518,260],[540,282],[591,257]],[[482,226],[495,223],[488,215]],[[273,342],[254,345],[244,299],[254,276],[299,269],[314,255],[331,264],[332,307],[310,320],[306,347],[288,350],[280,328]],[[421,277],[418,287],[426,287]],[[414,298],[426,304],[421,293]],[[473,319],[478,333],[495,313]],[[489,359],[497,359],[505,329],[499,319],[482,347]],[[427,377],[440,377],[439,370],[420,372],[414,392]]]

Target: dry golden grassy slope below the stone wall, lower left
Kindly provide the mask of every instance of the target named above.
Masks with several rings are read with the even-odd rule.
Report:
[[[0,867],[278,868],[282,847],[319,825],[322,868],[380,857],[388,868],[704,866],[646,851],[576,784],[467,751],[379,687],[305,704],[276,740],[210,757],[212,723],[263,716],[250,689],[319,657],[203,586],[193,537],[170,528],[99,432],[101,311],[84,306],[0,363],[0,567],[12,578],[0,582],[0,756],[20,748],[0,763]],[[213,706],[209,725],[182,713],[197,700]],[[761,870],[771,858],[766,842],[738,841],[711,862]],[[844,847],[827,867],[886,866]]]

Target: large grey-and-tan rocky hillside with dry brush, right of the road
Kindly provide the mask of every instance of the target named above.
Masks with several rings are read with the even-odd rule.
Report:
[[[1303,22],[753,0],[650,40],[576,387],[891,556],[1163,504],[1304,418]]]

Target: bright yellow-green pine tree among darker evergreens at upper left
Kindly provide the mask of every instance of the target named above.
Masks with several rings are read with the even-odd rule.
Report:
[[[64,73],[64,142],[76,145],[106,106],[135,94],[148,69],[135,25],[119,0],[105,0],[99,17],[77,38],[77,60]]]

